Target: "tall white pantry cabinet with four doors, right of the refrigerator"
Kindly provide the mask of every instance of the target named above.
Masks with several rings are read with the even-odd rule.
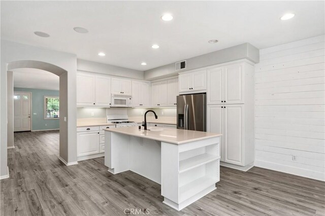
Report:
[[[247,170],[254,161],[254,66],[248,60],[207,68],[207,131],[222,133],[221,165]]]

